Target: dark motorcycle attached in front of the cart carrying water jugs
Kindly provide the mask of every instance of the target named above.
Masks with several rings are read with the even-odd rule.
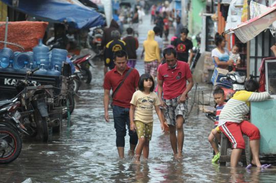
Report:
[[[55,113],[62,110],[62,107],[56,104],[54,98],[54,89],[52,85],[36,86],[30,80],[36,68],[27,72],[25,80],[18,80],[15,88],[21,101],[21,107],[18,108],[21,120],[29,133],[29,136],[37,136],[40,140],[47,142],[49,131],[53,126],[59,126],[61,119],[55,116]]]

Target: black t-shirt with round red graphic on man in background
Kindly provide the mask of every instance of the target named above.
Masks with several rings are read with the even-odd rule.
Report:
[[[182,41],[180,38],[177,38],[172,42],[172,45],[174,45],[177,52],[176,59],[188,62],[189,50],[193,48],[193,42],[189,39]]]

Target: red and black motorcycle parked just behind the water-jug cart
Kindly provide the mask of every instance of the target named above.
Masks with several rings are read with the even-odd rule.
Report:
[[[86,84],[89,84],[92,80],[92,74],[89,70],[91,64],[89,62],[91,55],[75,55],[70,58],[70,60],[74,63],[76,68],[80,71],[80,74],[78,74],[81,81],[83,81]]]

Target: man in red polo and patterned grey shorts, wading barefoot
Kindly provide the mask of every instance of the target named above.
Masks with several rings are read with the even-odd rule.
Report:
[[[187,94],[194,83],[188,63],[177,61],[173,48],[165,49],[163,56],[167,63],[158,68],[158,97],[160,106],[165,108],[173,153],[175,157],[180,158],[184,142],[183,123],[188,113]],[[189,84],[186,86],[187,80]]]

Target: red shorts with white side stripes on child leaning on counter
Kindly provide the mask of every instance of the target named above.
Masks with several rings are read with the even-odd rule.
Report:
[[[244,149],[245,143],[242,134],[249,137],[249,140],[260,139],[260,130],[248,121],[242,121],[241,123],[226,122],[219,127],[229,141],[233,144],[234,149]]]

